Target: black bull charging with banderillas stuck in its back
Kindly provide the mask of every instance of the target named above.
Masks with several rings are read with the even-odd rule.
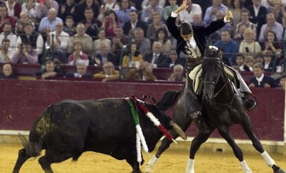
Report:
[[[167,130],[173,127],[186,138],[178,125],[156,105],[144,105]],[[140,109],[137,109],[137,113],[151,152],[163,134]],[[13,173],[19,172],[27,159],[39,156],[44,149],[46,154],[39,158],[39,164],[46,173],[53,172],[51,163],[70,158],[77,160],[86,151],[108,154],[119,160],[126,159],[133,167],[133,172],[141,172],[135,136],[135,123],[128,103],[123,98],[61,101],[50,105],[40,114],[32,125],[29,141],[22,136],[24,147],[19,150]]]

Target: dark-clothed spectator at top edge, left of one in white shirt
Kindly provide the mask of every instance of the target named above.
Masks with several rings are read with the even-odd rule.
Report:
[[[84,0],[82,3],[79,3],[77,6],[75,6],[75,11],[73,12],[73,17],[75,20],[75,23],[79,23],[84,19],[84,10],[86,7],[90,7],[93,9],[93,15],[95,18],[99,15],[99,3],[98,1],[94,0]]]

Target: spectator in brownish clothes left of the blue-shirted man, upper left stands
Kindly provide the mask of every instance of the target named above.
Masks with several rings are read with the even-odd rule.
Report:
[[[32,23],[35,29],[35,23],[29,17],[28,12],[22,11],[20,13],[20,19],[17,20],[16,26],[15,26],[15,34],[17,35],[25,34],[24,26],[26,26],[26,23],[29,23],[29,22]]]

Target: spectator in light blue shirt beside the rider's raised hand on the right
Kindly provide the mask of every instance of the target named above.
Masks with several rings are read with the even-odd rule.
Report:
[[[228,10],[227,6],[222,4],[222,0],[213,0],[212,6],[207,8],[206,12],[204,12],[204,20],[208,25],[211,23],[211,21],[214,21],[216,19],[216,13],[218,11],[225,12]]]

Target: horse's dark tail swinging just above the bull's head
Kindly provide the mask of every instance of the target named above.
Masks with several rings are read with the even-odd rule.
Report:
[[[165,111],[171,108],[174,103],[177,101],[180,94],[182,94],[183,90],[175,91],[171,90],[165,92],[162,98],[156,103],[156,106],[159,110]]]

